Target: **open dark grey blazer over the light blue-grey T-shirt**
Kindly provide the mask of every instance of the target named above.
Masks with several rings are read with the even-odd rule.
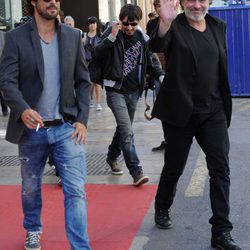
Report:
[[[57,28],[61,78],[59,112],[87,126],[91,84],[81,34],[64,24],[57,23]],[[33,20],[6,33],[0,63],[0,89],[11,109],[6,140],[20,141],[25,129],[21,114],[25,109],[36,108],[43,82],[43,54]]]

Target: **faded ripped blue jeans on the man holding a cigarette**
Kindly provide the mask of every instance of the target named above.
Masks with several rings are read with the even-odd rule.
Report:
[[[89,250],[84,191],[86,159],[84,146],[70,140],[73,132],[70,123],[41,128],[38,132],[25,130],[19,143],[23,225],[29,232],[42,231],[42,176],[47,157],[52,154],[62,179],[66,234],[71,250]]]

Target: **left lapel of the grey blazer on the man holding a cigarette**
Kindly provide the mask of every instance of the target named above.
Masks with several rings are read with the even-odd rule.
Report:
[[[35,59],[38,67],[39,76],[42,82],[44,82],[44,61],[43,61],[43,52],[40,44],[40,37],[36,28],[35,21],[30,23],[32,27],[31,37],[34,48]]]

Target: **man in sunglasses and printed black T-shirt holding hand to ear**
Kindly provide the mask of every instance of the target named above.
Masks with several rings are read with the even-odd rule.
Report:
[[[136,105],[144,89],[147,67],[152,66],[145,34],[138,30],[142,11],[139,6],[126,4],[121,8],[120,22],[112,25],[111,33],[95,47],[95,57],[104,61],[103,85],[107,103],[112,110],[117,127],[109,146],[107,163],[112,174],[123,174],[117,158],[123,152],[126,166],[135,186],[148,182],[139,165],[132,123]],[[153,67],[154,75],[163,78],[159,65]]]

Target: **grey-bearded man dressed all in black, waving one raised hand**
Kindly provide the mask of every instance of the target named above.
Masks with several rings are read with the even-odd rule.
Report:
[[[207,14],[209,0],[160,0],[160,21],[150,49],[167,57],[166,77],[152,116],[164,123],[165,164],[155,198],[155,223],[171,226],[170,207],[177,182],[196,138],[206,155],[213,215],[211,245],[241,249],[229,220],[229,138],[232,100],[228,82],[226,25]]]

